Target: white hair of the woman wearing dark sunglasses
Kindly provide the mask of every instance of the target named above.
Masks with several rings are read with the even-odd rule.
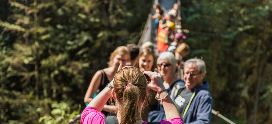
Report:
[[[172,52],[165,51],[165,52],[161,53],[157,59],[157,65],[159,64],[159,61],[161,59],[166,59],[168,62],[171,63],[171,65],[174,67],[174,69],[176,69],[176,59],[175,59],[175,55]]]

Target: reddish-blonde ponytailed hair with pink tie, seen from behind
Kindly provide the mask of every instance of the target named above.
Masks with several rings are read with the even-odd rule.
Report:
[[[133,85],[127,86],[128,83]],[[141,104],[145,100],[144,96],[146,93],[147,97],[149,97],[144,73],[136,67],[125,67],[115,74],[113,85],[118,112],[121,114],[120,123],[136,123],[137,117],[140,116]],[[127,87],[124,88],[124,86]]]

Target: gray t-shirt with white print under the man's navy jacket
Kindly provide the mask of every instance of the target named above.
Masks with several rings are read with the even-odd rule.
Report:
[[[183,108],[186,107],[186,104],[191,99],[193,93],[194,90],[187,90],[186,88],[184,88],[174,100],[176,108],[178,109],[180,114],[182,114]]]

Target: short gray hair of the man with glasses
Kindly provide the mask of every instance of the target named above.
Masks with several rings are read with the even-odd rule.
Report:
[[[191,58],[184,63],[184,69],[187,66],[196,65],[197,69],[199,70],[199,73],[206,73],[206,64],[202,59],[199,58]]]

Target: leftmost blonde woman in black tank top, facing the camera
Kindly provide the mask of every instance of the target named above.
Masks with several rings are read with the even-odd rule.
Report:
[[[113,76],[117,72],[120,63],[125,64],[129,59],[129,50],[125,46],[119,46],[111,53],[110,60],[108,62],[109,67],[98,70],[92,77],[84,97],[84,103],[86,103],[86,106],[113,79]],[[107,102],[107,104],[102,109],[102,113],[105,115],[110,115],[111,113],[115,113],[115,111],[113,110],[113,107],[110,105],[110,103]]]

